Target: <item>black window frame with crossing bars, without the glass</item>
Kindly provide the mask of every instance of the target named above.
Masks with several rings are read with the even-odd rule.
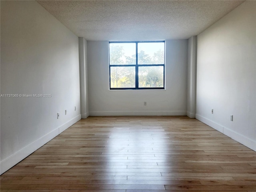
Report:
[[[138,64],[138,43],[164,43],[164,64]],[[136,44],[136,64],[110,65],[110,44],[111,43],[135,43]],[[165,41],[110,41],[108,42],[108,66],[109,66],[109,89],[110,90],[164,90],[165,89]],[[135,88],[111,88],[110,67],[135,67]],[[163,87],[139,87],[138,68],[142,66],[163,66],[164,86]]]

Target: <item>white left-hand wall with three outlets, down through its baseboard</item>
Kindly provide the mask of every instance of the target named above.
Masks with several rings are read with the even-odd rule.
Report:
[[[1,97],[1,173],[81,118],[78,37],[35,1],[1,1],[1,94],[52,95]]]

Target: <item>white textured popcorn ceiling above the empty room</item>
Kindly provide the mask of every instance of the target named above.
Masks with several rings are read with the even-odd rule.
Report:
[[[42,0],[50,14],[86,40],[187,39],[244,1]]]

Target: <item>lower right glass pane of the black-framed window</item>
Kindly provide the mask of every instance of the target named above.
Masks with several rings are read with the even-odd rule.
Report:
[[[164,87],[164,66],[141,66],[139,69],[139,88]]]

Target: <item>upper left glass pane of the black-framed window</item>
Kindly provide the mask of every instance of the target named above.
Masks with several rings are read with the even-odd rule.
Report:
[[[110,43],[110,65],[136,64],[136,43]]]

